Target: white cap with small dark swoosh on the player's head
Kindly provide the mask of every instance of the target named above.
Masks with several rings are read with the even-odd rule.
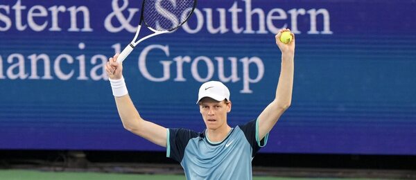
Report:
[[[198,93],[198,102],[205,97],[213,98],[214,100],[222,101],[222,100],[229,100],[229,90],[223,84],[223,82],[219,81],[209,81],[205,82],[201,85],[199,93]]]

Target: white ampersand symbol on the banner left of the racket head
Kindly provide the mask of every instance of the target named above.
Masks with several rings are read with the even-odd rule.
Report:
[[[118,1],[119,0],[112,1],[113,12],[111,12],[110,15],[107,15],[107,17],[105,17],[105,21],[104,21],[105,28],[111,33],[117,33],[123,29],[128,30],[130,33],[136,32],[136,26],[132,26],[130,24],[130,21],[132,21],[133,16],[136,14],[136,12],[139,11],[139,9],[128,8],[128,18],[125,19],[122,12],[123,10],[125,10],[125,8],[128,7],[128,0],[123,0],[123,5],[121,7],[119,7]],[[119,21],[120,26],[118,27],[113,26],[112,19],[114,17],[116,17],[116,19]]]

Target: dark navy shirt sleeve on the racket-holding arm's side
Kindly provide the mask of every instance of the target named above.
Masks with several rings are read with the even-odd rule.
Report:
[[[185,147],[187,147],[189,140],[198,136],[198,132],[189,129],[167,129],[166,157],[181,162],[184,157]]]

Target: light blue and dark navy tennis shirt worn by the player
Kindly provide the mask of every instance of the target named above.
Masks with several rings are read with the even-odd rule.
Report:
[[[180,162],[187,179],[252,179],[252,159],[267,138],[259,140],[258,120],[234,127],[220,143],[206,131],[168,129],[166,156]]]

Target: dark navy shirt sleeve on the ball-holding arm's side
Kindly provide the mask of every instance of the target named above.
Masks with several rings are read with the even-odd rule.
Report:
[[[244,132],[245,138],[252,147],[252,157],[256,154],[261,147],[267,144],[268,134],[261,140],[259,139],[259,119],[251,120],[245,125],[239,125],[240,129]]]

